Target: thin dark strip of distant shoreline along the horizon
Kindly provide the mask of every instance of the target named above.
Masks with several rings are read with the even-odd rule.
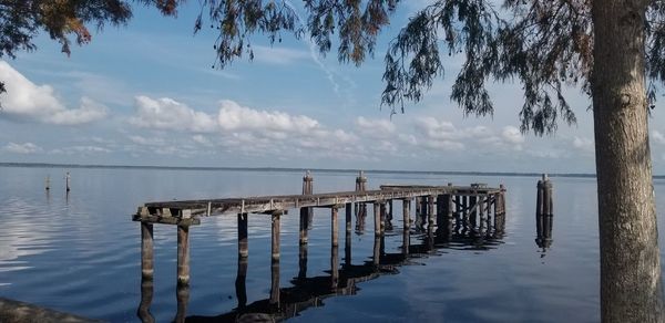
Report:
[[[102,168],[102,169],[160,169],[160,170],[216,170],[216,171],[285,171],[285,173],[349,173],[356,174],[355,168],[300,168],[300,167],[197,167],[197,166],[149,166],[149,165],[94,165],[94,164],[55,164],[55,163],[0,163],[0,167],[20,168]],[[412,174],[412,175],[458,175],[458,176],[510,176],[540,177],[541,173],[513,171],[453,171],[453,170],[399,170],[399,169],[362,169],[366,174]],[[595,178],[595,174],[586,173],[552,173],[550,177]],[[665,175],[655,175],[654,179],[665,179]]]

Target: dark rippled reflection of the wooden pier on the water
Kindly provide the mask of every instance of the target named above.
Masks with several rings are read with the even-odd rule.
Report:
[[[190,288],[177,288],[177,313],[175,322],[254,322],[282,321],[298,315],[299,312],[324,305],[324,300],[338,295],[354,295],[360,291],[358,284],[385,274],[398,274],[399,268],[415,264],[413,258],[423,258],[438,253],[440,249],[456,250],[490,250],[503,243],[504,216],[495,216],[493,221],[487,221],[483,235],[473,233],[480,230],[468,228],[466,223],[450,223],[449,228],[459,230],[434,230],[428,226],[424,233],[403,228],[402,235],[386,237],[375,236],[374,253],[361,264],[351,263],[350,244],[345,246],[345,263],[339,263],[338,246],[330,246],[330,270],[324,275],[307,277],[307,244],[300,246],[298,258],[298,275],[290,281],[291,286],[279,288],[279,260],[272,262],[270,293],[268,298],[247,304],[246,277],[247,259],[239,258],[235,281],[236,309],[216,316],[186,316]],[[459,219],[459,218],[458,218]],[[551,226],[550,226],[551,228]],[[413,236],[413,237],[412,237]],[[348,236],[347,236],[348,237]],[[399,252],[386,252],[386,239],[400,237],[402,239]],[[411,241],[413,238],[415,241]],[[399,238],[398,238],[399,239]],[[348,241],[348,239],[347,239]],[[416,243],[411,243],[416,242]],[[137,315],[143,322],[154,322],[150,312],[153,298],[153,282],[142,281],[141,303]]]

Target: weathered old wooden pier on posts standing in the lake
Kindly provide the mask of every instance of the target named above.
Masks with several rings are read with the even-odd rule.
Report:
[[[299,209],[299,277],[305,278],[307,271],[307,231],[311,227],[313,208],[330,209],[330,280],[329,290],[339,291],[340,284],[347,285],[348,281],[340,281],[351,268],[351,228],[352,215],[356,215],[356,232],[365,230],[365,218],[368,206],[372,207],[375,256],[374,268],[380,268],[385,257],[381,257],[383,235],[392,230],[392,216],[395,202],[401,202],[403,221],[403,247],[400,259],[408,259],[415,252],[410,246],[410,230],[427,232],[428,247],[433,249],[436,242],[450,242],[460,237],[473,241],[485,238],[502,237],[505,225],[505,188],[490,188],[484,184],[469,186],[424,185],[382,185],[380,189],[367,190],[367,178],[362,173],[356,179],[356,190],[314,194],[313,177],[307,173],[303,178],[301,195],[259,196],[244,198],[201,199],[182,201],[147,202],[139,207],[132,217],[141,222],[141,269],[144,284],[153,278],[153,226],[177,226],[177,284],[186,286],[190,282],[190,228],[201,223],[201,218],[212,216],[237,217],[238,232],[238,280],[236,289],[244,285],[247,271],[247,222],[249,215],[265,215],[272,218],[272,291],[268,303],[279,308],[283,292],[279,289],[279,249],[280,249],[280,218],[288,216],[289,211]],[[338,256],[338,226],[339,209],[344,208],[345,219],[345,263],[340,270]],[[411,209],[415,208],[415,220],[411,219]],[[413,225],[413,227],[411,227]],[[436,237],[436,239],[434,239]],[[437,241],[434,241],[437,240]],[[372,273],[374,274],[374,273]],[[246,295],[238,294],[238,301],[246,302]],[[180,298],[180,294],[178,294]],[[150,299],[152,299],[152,293]],[[143,302],[142,302],[143,303]],[[176,317],[177,319],[177,317]],[[178,321],[178,320],[176,320]]]

